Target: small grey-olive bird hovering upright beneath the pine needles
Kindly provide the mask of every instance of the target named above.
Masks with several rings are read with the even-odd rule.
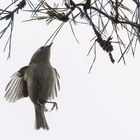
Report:
[[[58,108],[56,102],[51,102],[60,89],[59,74],[50,63],[51,45],[40,47],[33,54],[29,65],[12,75],[5,89],[5,98],[9,102],[29,96],[35,107],[36,129],[49,129],[44,114],[47,110],[45,103],[52,103],[52,110]]]

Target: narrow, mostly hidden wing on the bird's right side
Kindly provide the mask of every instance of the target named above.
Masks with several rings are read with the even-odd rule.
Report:
[[[55,68],[54,71],[55,71],[55,78],[56,78],[54,93],[55,93],[55,97],[57,97],[57,91],[60,90],[60,83],[59,83],[60,76]]]

